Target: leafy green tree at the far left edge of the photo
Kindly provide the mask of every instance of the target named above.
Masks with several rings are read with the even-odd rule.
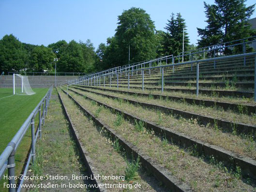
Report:
[[[22,43],[13,35],[0,40],[0,72],[17,72],[26,69],[27,52]]]

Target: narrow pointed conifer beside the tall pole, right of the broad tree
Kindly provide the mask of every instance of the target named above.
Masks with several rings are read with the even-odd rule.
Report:
[[[183,49],[183,30],[184,30],[184,52],[188,50],[189,47],[189,38],[188,33],[186,32],[186,23],[185,19],[181,17],[181,14],[176,15],[172,13],[171,19],[167,20],[165,29],[166,35],[164,39],[164,53],[165,55],[174,55],[178,56],[179,53],[182,55]]]

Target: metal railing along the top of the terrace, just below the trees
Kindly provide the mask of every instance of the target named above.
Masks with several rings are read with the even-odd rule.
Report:
[[[253,40],[252,41],[246,41],[247,39],[250,39],[250,38],[252,38]],[[229,44],[229,43],[234,43],[234,42],[239,42],[239,41],[242,41],[242,43],[226,45],[226,44]],[[184,52],[184,53],[187,53],[187,54],[182,54],[182,55],[179,54],[178,56],[175,56],[175,57],[173,55],[170,55],[170,56],[165,56],[165,57],[162,57],[162,58],[152,59],[152,60],[149,60],[149,61],[138,62],[138,64],[133,63],[133,64],[130,64],[130,65],[119,66],[119,67],[108,69],[108,70],[105,70],[105,71],[102,71],[102,72],[97,72],[97,73],[85,75],[85,76],[82,76],[82,77],[79,77],[79,78],[76,78],[76,79],[68,80],[68,81],[60,83],[59,85],[61,86],[63,84],[69,84],[69,85],[70,84],[76,84],[76,83],[84,81],[86,79],[91,79],[91,78],[94,78],[94,77],[102,76],[103,74],[112,74],[113,75],[113,74],[120,73],[120,72],[123,72],[123,71],[125,71],[125,72],[132,71],[132,75],[133,75],[133,71],[135,70],[135,67],[136,67],[136,70],[140,69],[140,68],[145,68],[145,64],[150,63],[149,68],[151,68],[153,62],[157,61],[157,65],[159,65],[159,62],[160,62],[160,65],[162,65],[162,61],[165,60],[165,59],[166,59],[166,64],[168,64],[168,59],[171,59],[171,61],[169,61],[171,64],[175,64],[175,62],[180,63],[181,58],[182,58],[182,62],[183,62],[184,59],[186,61],[193,61],[193,60],[198,60],[200,58],[206,59],[206,57],[210,57],[208,59],[216,58],[218,56],[223,57],[225,49],[229,49],[229,50],[232,51],[232,49],[234,50],[236,46],[240,46],[240,45],[242,46],[242,52],[241,53],[245,54],[246,53],[246,45],[247,44],[252,44],[253,42],[256,42],[256,36],[248,37],[248,38],[244,38],[244,39],[240,39],[240,40],[235,40],[235,41],[232,41],[232,42],[226,42],[226,43],[222,43],[222,44],[216,44],[216,45],[211,45],[211,46],[199,48],[199,49],[196,49],[195,51],[190,51],[189,53]],[[203,50],[201,50],[201,49],[203,49]],[[197,50],[201,50],[201,51],[197,51]],[[237,54],[237,53],[235,53],[235,54]],[[214,59],[213,59],[213,62],[214,62],[214,69],[215,69],[216,63],[215,63]],[[245,66],[245,57],[244,57],[243,64]],[[137,71],[136,71],[136,73],[137,73]]]

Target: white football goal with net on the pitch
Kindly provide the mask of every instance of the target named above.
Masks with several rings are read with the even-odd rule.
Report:
[[[14,95],[33,95],[35,92],[30,87],[27,76],[14,74],[13,76]]]

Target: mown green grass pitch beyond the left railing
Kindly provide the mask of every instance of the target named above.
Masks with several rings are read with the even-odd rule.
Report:
[[[34,95],[13,95],[12,88],[0,88],[0,153],[2,153],[20,126],[45,96],[47,90],[38,88],[33,89],[36,92]],[[37,127],[38,115],[35,118],[35,122],[35,127]],[[30,137],[31,131],[29,128],[15,153],[16,175],[20,174],[27,157],[31,142]],[[2,179],[0,181],[0,189],[3,189],[3,182],[8,181]]]

